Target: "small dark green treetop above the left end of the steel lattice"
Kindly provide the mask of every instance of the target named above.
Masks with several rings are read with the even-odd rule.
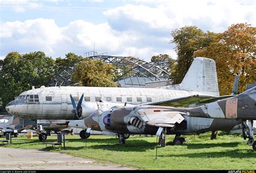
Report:
[[[76,63],[79,60],[82,60],[82,56],[77,56],[75,53],[69,52],[68,54],[65,54],[65,58],[56,58],[55,60],[55,75],[65,70],[65,68],[68,68],[70,65]]]

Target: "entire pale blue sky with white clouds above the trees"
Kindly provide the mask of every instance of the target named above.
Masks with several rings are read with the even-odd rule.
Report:
[[[176,57],[170,32],[183,26],[223,32],[255,26],[254,0],[0,0],[0,57],[8,52],[44,51],[52,58],[93,50],[145,60]]]

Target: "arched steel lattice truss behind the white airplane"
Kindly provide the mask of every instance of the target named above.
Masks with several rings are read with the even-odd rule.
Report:
[[[167,80],[170,75],[163,69],[169,65],[169,62],[166,61],[162,63],[154,62],[153,64],[134,57],[114,57],[105,55],[91,56],[87,58],[102,60],[105,63],[114,65],[119,74],[116,81],[130,78],[131,84],[127,85],[145,86],[145,82]],[[71,74],[74,72],[77,63],[79,63],[79,61],[75,64],[71,64],[63,72],[59,73],[48,86],[72,85]]]

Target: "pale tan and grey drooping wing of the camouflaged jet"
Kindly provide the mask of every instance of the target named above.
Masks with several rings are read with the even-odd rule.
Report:
[[[147,113],[147,110],[140,109],[138,111],[140,116],[140,120],[146,122],[150,126],[156,127],[174,127],[175,123],[180,123],[184,120],[184,117],[180,112],[167,112],[167,111],[159,111],[151,114]]]

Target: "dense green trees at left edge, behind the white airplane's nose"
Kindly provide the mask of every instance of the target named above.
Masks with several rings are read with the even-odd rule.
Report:
[[[32,86],[48,84],[53,75],[54,60],[46,57],[44,52],[10,52],[0,64],[0,95],[5,107]]]

